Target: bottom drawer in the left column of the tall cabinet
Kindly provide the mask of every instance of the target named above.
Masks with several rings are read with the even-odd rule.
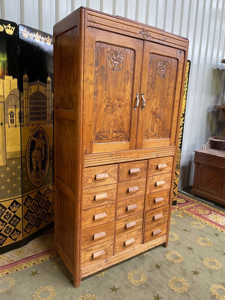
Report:
[[[114,240],[81,250],[81,268],[90,266],[113,256]]]

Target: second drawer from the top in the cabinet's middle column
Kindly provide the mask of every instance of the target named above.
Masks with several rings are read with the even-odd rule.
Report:
[[[129,180],[118,183],[117,200],[125,200],[145,195],[146,178]]]

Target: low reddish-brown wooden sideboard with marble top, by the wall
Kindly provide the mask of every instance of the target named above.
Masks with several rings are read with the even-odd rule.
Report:
[[[194,164],[193,196],[225,204],[225,151],[195,150]]]

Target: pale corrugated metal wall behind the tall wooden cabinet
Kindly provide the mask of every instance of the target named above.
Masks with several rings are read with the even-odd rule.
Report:
[[[224,99],[225,0],[0,0],[0,17],[49,32],[80,6],[189,38],[191,60],[179,186],[193,183],[193,150],[220,133]]]

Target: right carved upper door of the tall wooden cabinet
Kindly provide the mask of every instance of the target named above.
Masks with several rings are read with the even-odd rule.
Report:
[[[183,67],[184,51],[144,42],[137,149],[175,145]]]

